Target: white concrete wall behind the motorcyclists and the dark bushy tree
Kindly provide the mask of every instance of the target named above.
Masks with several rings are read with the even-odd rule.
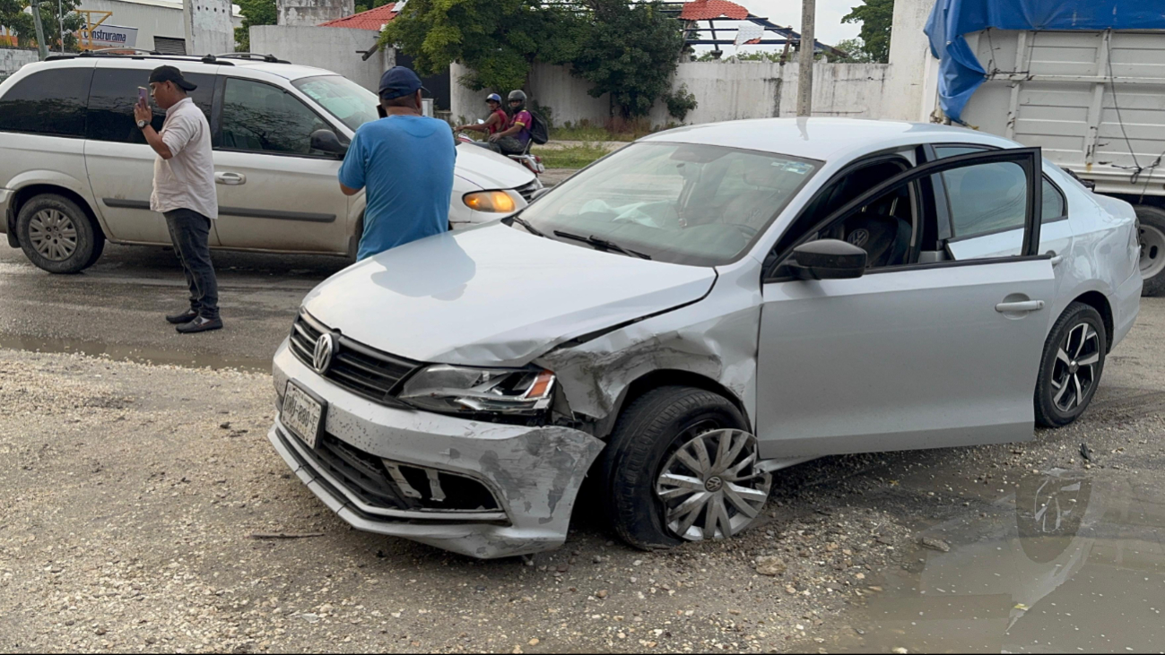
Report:
[[[813,115],[877,118],[882,113],[887,64],[826,64],[813,66]],[[488,91],[469,91],[458,84],[466,69],[450,69],[453,84],[454,119],[485,115]],[[736,119],[796,115],[797,65],[762,62],[687,62],[679,64],[672,90],[682,85],[696,95],[698,106],[684,119],[686,123],[707,123]],[[530,72],[527,93],[553,112],[556,124],[589,121],[603,124],[610,115],[609,99],[592,98],[589,85],[562,66],[536,64]],[[499,91],[504,98],[506,91]],[[678,122],[668,107],[657,102],[651,109],[652,124]]]

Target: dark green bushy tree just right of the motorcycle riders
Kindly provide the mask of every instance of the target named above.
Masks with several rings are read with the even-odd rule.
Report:
[[[571,26],[571,48],[559,51],[573,74],[591,83],[599,98],[610,94],[624,119],[644,116],[671,88],[684,47],[683,24],[662,3],[584,0],[588,15]]]

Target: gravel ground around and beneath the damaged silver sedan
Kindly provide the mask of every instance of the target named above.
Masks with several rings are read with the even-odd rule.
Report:
[[[0,650],[852,647],[926,526],[1033,470],[1159,479],[1163,319],[1146,300],[1093,410],[1031,443],[818,460],[757,527],[669,553],[610,541],[581,497],[563,549],[492,562],[348,529],[267,442],[267,375],[0,350]]]

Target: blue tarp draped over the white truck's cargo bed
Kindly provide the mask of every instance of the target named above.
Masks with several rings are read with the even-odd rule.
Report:
[[[961,120],[987,71],[965,34],[997,29],[1165,29],[1162,0],[938,0],[925,33],[939,59],[939,105]],[[1165,38],[1165,36],[1163,36]]]

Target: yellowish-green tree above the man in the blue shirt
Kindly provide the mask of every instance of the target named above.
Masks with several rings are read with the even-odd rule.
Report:
[[[411,55],[421,74],[460,62],[471,70],[463,84],[504,92],[525,84],[539,55],[555,58],[573,16],[565,5],[541,0],[411,0],[381,43]]]

